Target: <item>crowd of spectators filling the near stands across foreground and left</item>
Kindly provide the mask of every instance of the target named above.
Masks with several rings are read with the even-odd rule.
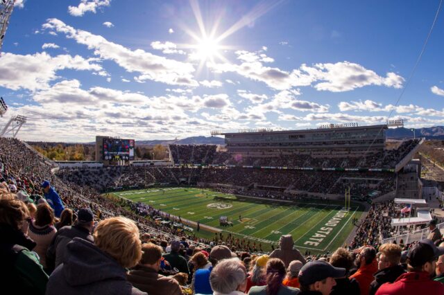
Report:
[[[379,244],[379,238],[391,231],[387,226],[391,218],[400,212],[393,203],[372,205],[350,247],[341,247],[331,256],[302,256],[291,235],[283,235],[278,249],[267,254],[260,253],[260,243],[230,233],[204,240],[162,227],[156,219],[163,213],[151,206],[103,197],[93,185],[83,184],[86,179],[78,173],[71,176],[77,175],[79,181],[62,180],[52,168],[20,141],[0,138],[0,277],[5,290],[17,294],[444,294],[444,247],[435,245],[441,240],[434,244],[426,239],[403,248]],[[128,173],[139,170],[126,169]],[[201,177],[202,171],[194,173]],[[195,177],[183,168],[144,172],[153,181]],[[119,173],[122,178],[124,173]],[[47,188],[60,197],[65,207],[60,214]]]

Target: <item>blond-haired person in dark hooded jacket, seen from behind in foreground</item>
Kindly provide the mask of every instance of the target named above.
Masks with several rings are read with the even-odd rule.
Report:
[[[99,222],[94,244],[74,238],[67,244],[66,254],[49,277],[46,295],[146,294],[126,279],[124,268],[134,267],[142,257],[139,229],[128,218]]]

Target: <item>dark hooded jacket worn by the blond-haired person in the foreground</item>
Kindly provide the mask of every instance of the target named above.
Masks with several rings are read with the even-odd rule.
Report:
[[[51,294],[146,294],[126,280],[119,263],[91,242],[74,238],[66,256],[49,277],[46,295]]]

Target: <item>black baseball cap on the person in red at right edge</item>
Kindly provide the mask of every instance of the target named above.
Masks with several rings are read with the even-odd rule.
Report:
[[[444,247],[436,247],[432,240],[425,239],[411,247],[407,258],[409,258],[409,265],[420,267],[425,265],[425,262],[434,260],[441,255],[444,255]]]

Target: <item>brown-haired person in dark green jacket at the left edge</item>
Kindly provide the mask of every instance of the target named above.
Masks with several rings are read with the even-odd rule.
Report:
[[[48,276],[31,252],[35,242],[24,234],[29,222],[31,218],[23,202],[14,197],[0,198],[0,278],[3,292],[45,294]]]

